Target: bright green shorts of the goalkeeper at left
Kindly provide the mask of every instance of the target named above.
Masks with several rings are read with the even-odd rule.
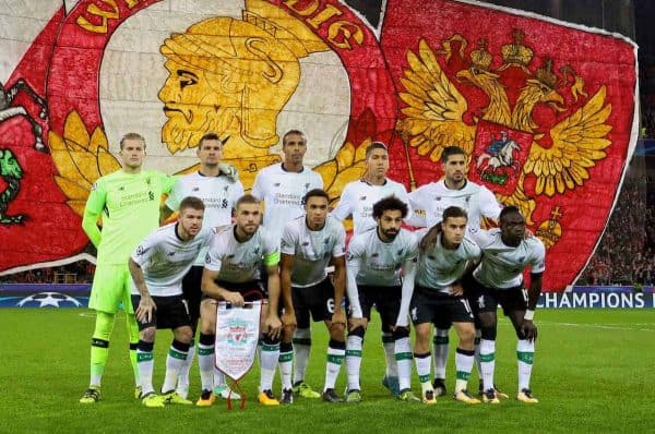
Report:
[[[116,313],[122,303],[122,309],[127,313],[134,313],[130,299],[131,281],[128,264],[96,266],[88,308]]]

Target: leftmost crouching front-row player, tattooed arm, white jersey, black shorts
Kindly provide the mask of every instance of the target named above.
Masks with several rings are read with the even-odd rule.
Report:
[[[192,338],[191,317],[182,298],[182,278],[211,231],[202,230],[204,204],[198,197],[180,203],[178,221],[151,233],[134,251],[128,266],[132,275],[132,305],[139,325],[136,361],[141,400],[146,407],[191,401],[175,391]],[[166,358],[163,396],[153,388],[153,347],[157,328],[171,328],[174,340]]]

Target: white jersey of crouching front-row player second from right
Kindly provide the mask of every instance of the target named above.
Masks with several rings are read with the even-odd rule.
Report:
[[[422,238],[428,230],[417,232],[417,238]],[[420,253],[416,285],[425,288],[449,292],[451,285],[464,276],[466,266],[480,258],[480,248],[471,239],[464,238],[455,250],[445,249],[441,242],[443,233],[439,233],[437,242],[431,249]]]

